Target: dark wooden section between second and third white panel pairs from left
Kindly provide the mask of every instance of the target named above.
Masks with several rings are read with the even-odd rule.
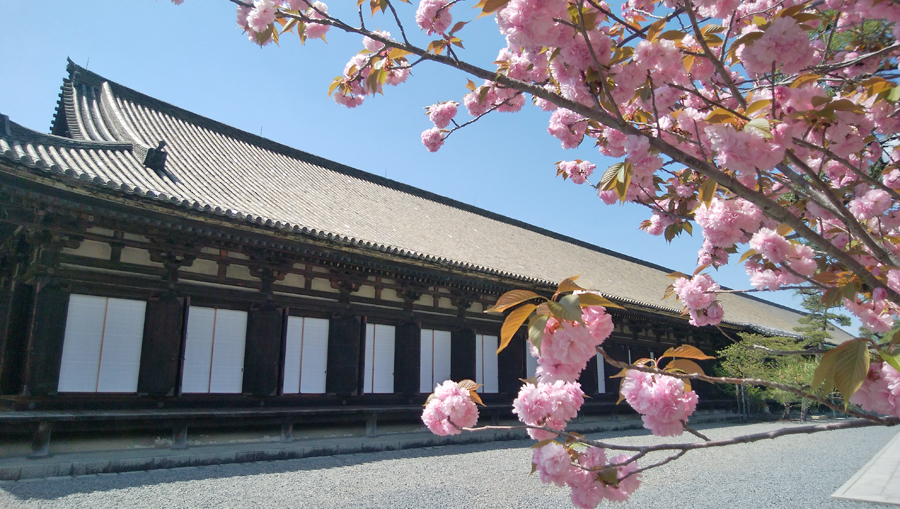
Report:
[[[283,310],[271,304],[250,310],[247,315],[247,346],[244,349],[244,394],[278,394],[283,329]]]

